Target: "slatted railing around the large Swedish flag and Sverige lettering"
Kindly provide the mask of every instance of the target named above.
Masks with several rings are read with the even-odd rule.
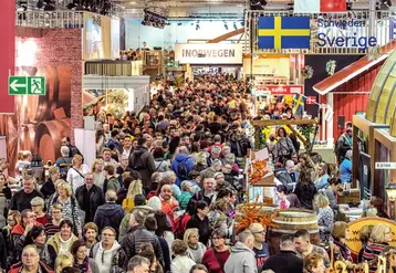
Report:
[[[258,22],[260,17],[310,17],[311,42],[309,50],[262,50],[258,49]],[[346,21],[356,21],[356,24],[346,25]],[[332,22],[332,25],[323,27],[323,21]],[[320,23],[322,22],[322,23]],[[344,24],[343,24],[344,23]],[[335,25],[338,24],[338,25]],[[388,44],[396,38],[396,17],[390,11],[350,11],[348,13],[331,14],[293,14],[292,11],[247,11],[244,17],[244,53],[262,54],[367,54],[371,46],[337,46],[335,39],[375,36],[378,46]],[[323,45],[319,41],[319,34],[324,33],[326,39],[334,42]],[[321,36],[323,39],[323,34]],[[350,40],[351,41],[351,40]],[[319,44],[322,43],[322,45]],[[350,42],[351,44],[352,42]],[[363,40],[362,40],[363,43]]]

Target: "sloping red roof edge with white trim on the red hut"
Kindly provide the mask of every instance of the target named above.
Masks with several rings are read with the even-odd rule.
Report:
[[[365,55],[364,57],[357,60],[356,62],[350,64],[348,66],[342,69],[341,71],[334,73],[334,75],[326,77],[320,83],[316,83],[313,86],[313,90],[321,95],[327,94],[329,92],[333,91],[335,87],[346,83],[347,81],[357,76],[362,72],[386,60],[389,53],[394,49],[396,49],[396,40],[393,40],[390,43],[382,46],[381,55],[377,59],[369,60],[368,56]]]

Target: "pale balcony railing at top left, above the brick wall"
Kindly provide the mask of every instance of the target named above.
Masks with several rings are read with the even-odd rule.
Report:
[[[83,28],[83,11],[17,11],[15,25],[30,28]]]

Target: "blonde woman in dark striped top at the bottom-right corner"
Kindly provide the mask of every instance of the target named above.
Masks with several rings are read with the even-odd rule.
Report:
[[[392,241],[392,229],[387,224],[375,224],[369,237],[371,241],[364,246],[363,261],[368,263],[381,255]],[[369,272],[376,272],[377,263],[369,263]]]

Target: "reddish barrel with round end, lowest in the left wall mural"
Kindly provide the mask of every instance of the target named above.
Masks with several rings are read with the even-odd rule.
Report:
[[[61,139],[70,136],[70,118],[42,122],[35,130],[34,147],[38,154],[44,160],[53,162],[61,157]]]

